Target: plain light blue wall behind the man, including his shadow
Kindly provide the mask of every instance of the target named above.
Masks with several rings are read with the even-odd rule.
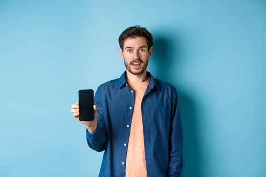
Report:
[[[184,177],[266,176],[266,1],[0,1],[0,176],[98,176],[70,113],[125,70],[118,37],[154,36],[178,92]]]

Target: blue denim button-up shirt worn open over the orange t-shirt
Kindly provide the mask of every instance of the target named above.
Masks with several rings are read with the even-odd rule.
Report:
[[[183,135],[176,89],[148,71],[147,76],[150,84],[141,103],[147,175],[181,176]],[[99,176],[125,176],[135,96],[125,77],[126,71],[95,93],[98,126],[92,134],[86,129],[86,137],[90,148],[105,150]]]

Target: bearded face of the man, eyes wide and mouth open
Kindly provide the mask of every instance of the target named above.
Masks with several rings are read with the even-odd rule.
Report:
[[[128,38],[124,41],[123,51],[119,49],[120,56],[124,59],[126,69],[134,75],[142,74],[148,65],[152,47],[148,51],[145,37]]]

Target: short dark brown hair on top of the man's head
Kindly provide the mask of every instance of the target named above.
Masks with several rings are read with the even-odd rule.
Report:
[[[144,27],[139,25],[128,27],[119,36],[118,42],[121,50],[123,51],[124,41],[128,38],[145,37],[147,40],[148,50],[153,46],[153,36]]]

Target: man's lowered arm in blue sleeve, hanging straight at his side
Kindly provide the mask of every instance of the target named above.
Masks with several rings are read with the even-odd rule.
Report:
[[[183,134],[176,90],[172,89],[171,124],[169,132],[169,164],[167,176],[180,177],[183,169]]]

